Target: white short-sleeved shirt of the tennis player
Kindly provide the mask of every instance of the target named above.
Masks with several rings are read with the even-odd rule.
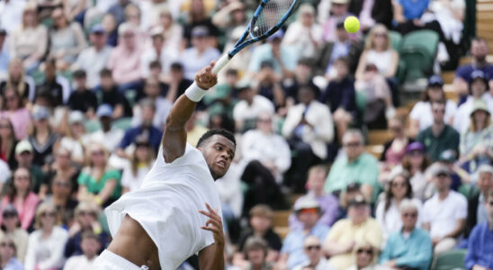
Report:
[[[137,220],[152,238],[163,270],[175,270],[185,259],[214,243],[208,220],[199,210],[220,210],[220,196],[202,153],[187,144],[184,156],[166,163],[159,149],[154,166],[141,188],[126,193],[105,210],[112,236],[126,214]],[[139,252],[136,250],[136,252]]]

